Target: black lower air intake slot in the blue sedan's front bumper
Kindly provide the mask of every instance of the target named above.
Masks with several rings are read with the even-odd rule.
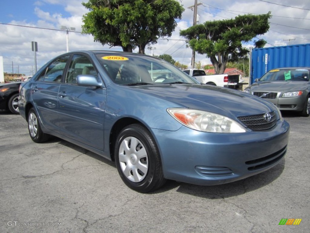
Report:
[[[248,170],[255,171],[255,170],[268,167],[276,163],[277,161],[279,161],[281,158],[284,157],[285,153],[286,153],[286,146],[283,147],[281,150],[273,154],[270,154],[268,156],[265,156],[263,158],[258,158],[258,159],[247,161],[246,165],[254,165],[254,166],[248,167]]]

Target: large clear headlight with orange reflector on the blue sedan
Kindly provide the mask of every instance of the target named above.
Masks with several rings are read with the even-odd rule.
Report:
[[[167,112],[182,125],[193,130],[212,133],[244,133],[246,129],[228,117],[188,108],[168,108]]]

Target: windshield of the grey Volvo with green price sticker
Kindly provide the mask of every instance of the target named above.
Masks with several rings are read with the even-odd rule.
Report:
[[[309,70],[275,69],[264,74],[259,81],[309,81]]]

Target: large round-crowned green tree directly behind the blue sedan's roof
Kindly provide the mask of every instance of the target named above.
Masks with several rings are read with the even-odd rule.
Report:
[[[143,54],[148,44],[171,36],[184,11],[176,0],[89,0],[82,5],[90,10],[83,15],[82,33],[126,52],[138,47]]]

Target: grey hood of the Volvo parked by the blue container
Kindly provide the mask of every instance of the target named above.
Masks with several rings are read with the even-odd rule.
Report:
[[[250,86],[255,91],[300,91],[309,86],[305,81],[262,81]]]

